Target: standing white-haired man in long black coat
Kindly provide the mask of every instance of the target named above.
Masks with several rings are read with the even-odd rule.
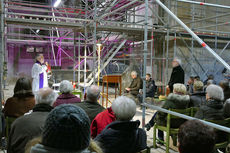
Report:
[[[178,58],[174,58],[172,61],[172,67],[172,74],[167,86],[167,88],[170,89],[170,92],[173,91],[173,85],[175,83],[184,84],[184,70],[181,67],[181,60]]]

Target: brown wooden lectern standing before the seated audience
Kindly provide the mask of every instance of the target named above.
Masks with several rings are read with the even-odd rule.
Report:
[[[104,83],[106,83],[106,93],[104,93]],[[117,84],[119,84],[119,95],[121,95],[121,75],[105,75],[103,76],[102,81],[102,106],[104,106],[104,96],[106,97],[106,108],[108,107],[108,92],[109,92],[109,83],[115,83],[115,98],[117,97]]]

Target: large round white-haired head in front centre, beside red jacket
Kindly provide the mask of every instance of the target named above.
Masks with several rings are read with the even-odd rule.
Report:
[[[120,121],[130,121],[136,114],[136,103],[125,96],[120,96],[112,103],[112,110]]]

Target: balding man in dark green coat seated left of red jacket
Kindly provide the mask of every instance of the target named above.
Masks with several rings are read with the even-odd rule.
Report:
[[[86,100],[82,103],[75,103],[75,105],[81,107],[86,114],[89,116],[90,124],[93,119],[100,112],[104,111],[104,107],[102,107],[97,101],[100,98],[100,89],[98,86],[92,85],[87,88],[86,91]]]

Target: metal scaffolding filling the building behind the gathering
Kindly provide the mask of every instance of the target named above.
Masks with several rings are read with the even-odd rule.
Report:
[[[52,65],[71,61],[72,80],[83,87],[96,84],[114,62],[138,63],[142,77],[151,73],[161,94],[174,57],[182,59],[186,78],[198,75],[205,80],[214,74],[220,80],[223,69],[230,70],[227,2],[82,0],[79,6],[57,8],[20,0],[1,2],[4,60],[12,44],[45,45]],[[103,44],[100,61],[99,42]],[[145,90],[143,94],[144,98]],[[143,124],[144,118],[143,108]]]

